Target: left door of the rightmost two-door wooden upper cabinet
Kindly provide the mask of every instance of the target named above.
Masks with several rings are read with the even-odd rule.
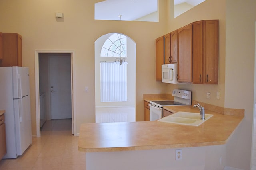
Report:
[[[193,23],[193,83],[202,84],[203,76],[203,22]]]

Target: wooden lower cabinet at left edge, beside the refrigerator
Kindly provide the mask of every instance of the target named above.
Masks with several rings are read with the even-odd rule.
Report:
[[[6,154],[6,133],[5,133],[5,123],[4,114],[0,116],[0,160]]]

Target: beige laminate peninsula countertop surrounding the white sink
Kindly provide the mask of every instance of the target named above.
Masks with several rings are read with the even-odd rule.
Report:
[[[199,113],[192,106],[164,108]],[[244,118],[209,110],[205,110],[205,113],[214,116],[198,127],[159,121],[82,124],[78,150],[110,152],[223,145]]]

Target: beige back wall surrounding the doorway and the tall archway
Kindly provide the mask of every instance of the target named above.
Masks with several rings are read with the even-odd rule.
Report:
[[[160,0],[160,22],[94,20],[97,0],[1,0],[0,31],[22,35],[22,62],[30,69],[32,134],[36,134],[34,50],[74,50],[76,54],[76,123],[95,121],[94,42],[119,32],[136,42],[136,112],[144,120],[143,94],[164,92],[155,81],[155,39],[166,27],[166,0]],[[64,21],[55,12],[64,13]],[[157,30],[157,31],[156,31]],[[152,75],[152,76],[149,76]],[[150,84],[150,85],[149,85]],[[89,92],[84,92],[88,86]]]

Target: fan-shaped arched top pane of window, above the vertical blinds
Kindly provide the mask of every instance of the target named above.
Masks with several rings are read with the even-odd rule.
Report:
[[[100,57],[127,57],[127,37],[114,33],[102,46]]]

